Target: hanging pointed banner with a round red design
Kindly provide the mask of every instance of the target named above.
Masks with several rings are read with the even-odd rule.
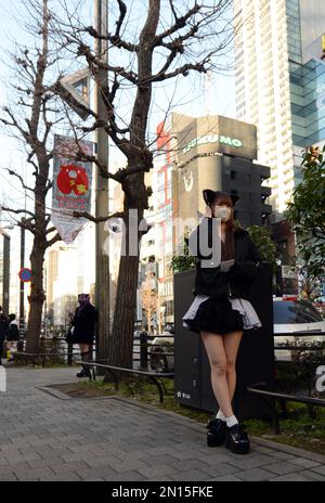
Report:
[[[53,157],[53,195],[51,220],[66,244],[75,241],[84,218],[74,218],[73,211],[91,209],[92,164],[74,160],[78,150],[92,155],[92,143],[55,136]]]

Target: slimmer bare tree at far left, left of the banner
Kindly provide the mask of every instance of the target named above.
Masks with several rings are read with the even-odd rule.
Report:
[[[47,83],[47,73],[56,63],[56,55],[49,48],[50,13],[48,0],[32,1],[28,4],[29,13],[38,27],[40,43],[35,50],[18,47],[14,55],[16,69],[13,85],[18,95],[17,104],[4,107],[0,118],[5,132],[24,143],[27,163],[32,168],[31,182],[24,179],[16,170],[8,168],[9,173],[21,183],[24,191],[32,198],[34,208],[14,208],[10,204],[2,209],[12,216],[23,215],[17,224],[32,234],[30,254],[31,288],[30,310],[28,317],[26,350],[37,351],[41,328],[41,317],[46,299],[43,287],[43,261],[46,250],[61,240],[55,228],[50,224],[47,210],[47,195],[52,188],[49,179],[52,159],[52,140],[55,124],[61,120],[57,96]],[[37,33],[34,31],[34,33]],[[58,118],[55,119],[55,117]]]

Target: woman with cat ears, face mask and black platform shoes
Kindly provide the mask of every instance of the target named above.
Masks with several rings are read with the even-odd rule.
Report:
[[[219,404],[216,418],[207,426],[207,443],[225,443],[233,452],[246,454],[249,439],[234,415],[232,399],[243,330],[261,326],[248,300],[249,288],[259,274],[260,256],[248,232],[234,222],[233,206],[238,197],[205,190],[204,198],[206,214],[188,238],[190,252],[198,260],[195,299],[183,317],[183,326],[203,338]]]

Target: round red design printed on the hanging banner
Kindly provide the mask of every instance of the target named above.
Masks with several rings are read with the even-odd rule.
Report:
[[[63,194],[84,195],[89,190],[89,179],[84,168],[74,164],[60,166],[56,180],[57,188]]]

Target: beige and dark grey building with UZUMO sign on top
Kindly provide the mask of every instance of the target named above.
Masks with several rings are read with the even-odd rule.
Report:
[[[196,218],[205,211],[203,190],[237,195],[234,216],[243,227],[268,224],[271,189],[266,166],[257,164],[256,126],[223,116],[172,114],[173,218]]]

